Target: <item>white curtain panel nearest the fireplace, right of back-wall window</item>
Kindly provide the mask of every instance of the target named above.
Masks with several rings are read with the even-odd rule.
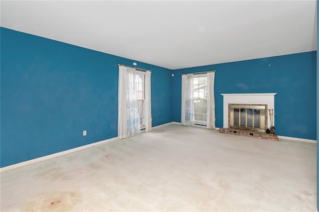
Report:
[[[215,129],[215,72],[207,73],[207,129]]]

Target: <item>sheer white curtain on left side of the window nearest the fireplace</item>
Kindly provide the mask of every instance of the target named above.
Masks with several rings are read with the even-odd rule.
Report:
[[[193,75],[181,76],[181,124],[194,125]]]

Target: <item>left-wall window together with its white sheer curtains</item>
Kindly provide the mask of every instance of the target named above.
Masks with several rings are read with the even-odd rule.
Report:
[[[118,97],[118,138],[152,131],[151,70],[119,64]]]

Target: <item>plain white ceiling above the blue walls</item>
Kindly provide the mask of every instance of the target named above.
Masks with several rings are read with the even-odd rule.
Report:
[[[179,69],[317,50],[316,19],[316,0],[1,0],[0,23]]]

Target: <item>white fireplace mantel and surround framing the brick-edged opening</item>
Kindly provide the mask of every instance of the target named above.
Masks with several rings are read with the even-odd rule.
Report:
[[[268,94],[221,94],[224,97],[223,127],[228,128],[228,104],[262,104],[267,105],[268,109],[275,111],[275,95],[277,93]],[[275,118],[274,118],[275,119]],[[273,121],[275,125],[275,120]],[[268,118],[268,126],[270,126],[270,118]]]

